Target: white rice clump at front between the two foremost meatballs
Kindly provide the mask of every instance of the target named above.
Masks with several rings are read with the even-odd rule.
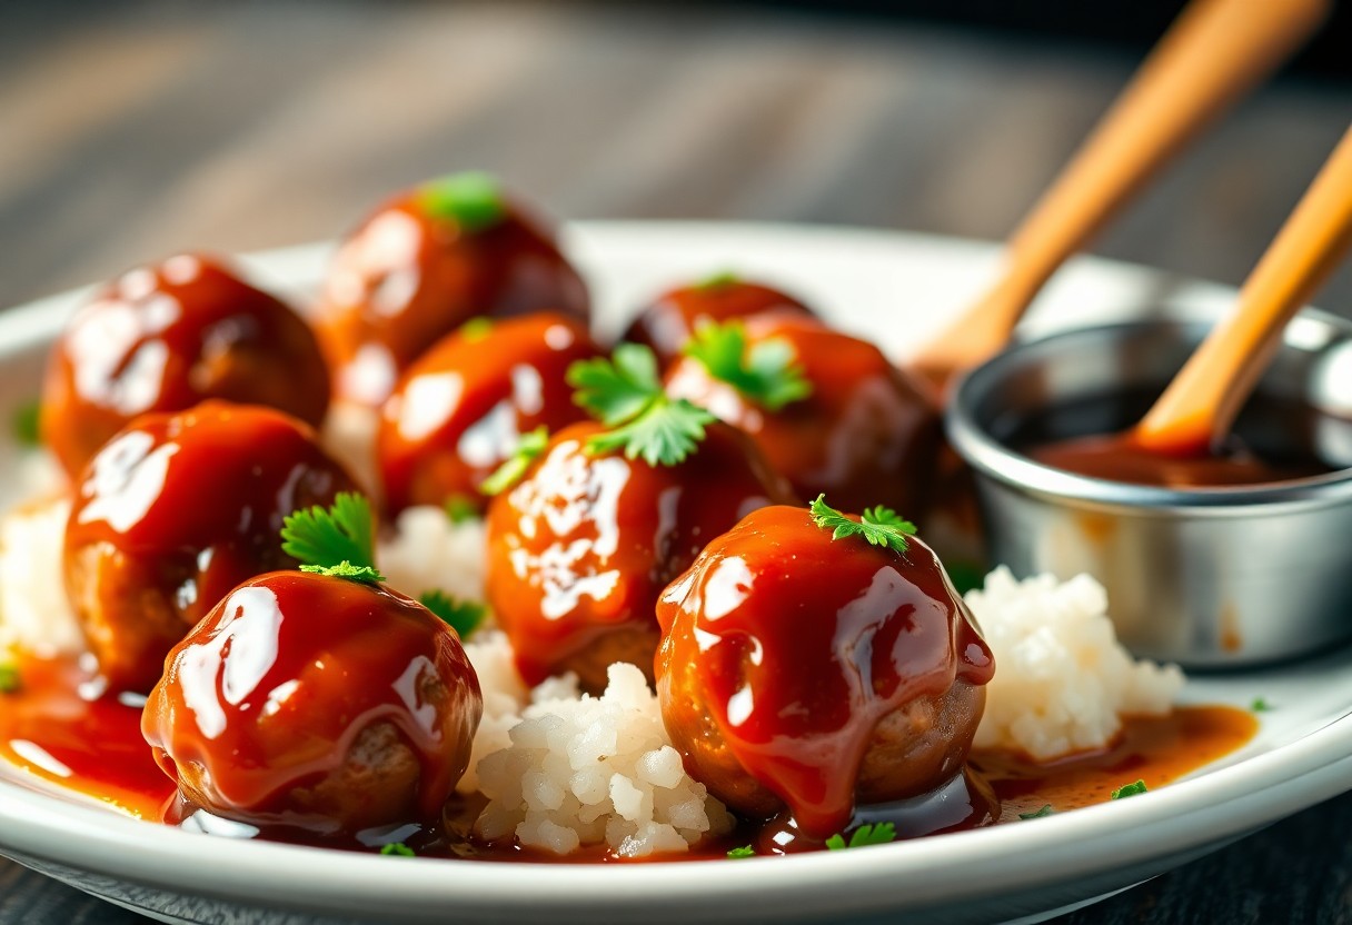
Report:
[[[493,636],[472,642],[469,655],[476,669],[477,660],[488,665],[480,683],[489,679],[472,782],[488,798],[475,822],[480,837],[515,836],[556,855],[606,844],[621,857],[645,857],[731,829],[723,805],[685,774],[634,665],[611,665],[599,698],[579,698],[572,678],[552,679],[519,715],[495,715],[498,691],[487,688],[511,667],[511,649]]]

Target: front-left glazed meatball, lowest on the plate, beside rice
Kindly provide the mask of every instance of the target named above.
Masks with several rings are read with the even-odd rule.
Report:
[[[142,732],[189,807],[350,841],[435,822],[481,713],[460,638],[426,607],[384,586],[272,572],[169,652]]]

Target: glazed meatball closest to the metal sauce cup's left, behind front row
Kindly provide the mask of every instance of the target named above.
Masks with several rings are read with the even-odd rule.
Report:
[[[868,341],[810,318],[749,318],[745,334],[748,352],[769,342],[791,348],[807,398],[772,411],[694,357],[671,369],[667,391],[745,430],[800,498],[826,492],[842,510],[886,504],[921,517],[941,422],[917,384]]]

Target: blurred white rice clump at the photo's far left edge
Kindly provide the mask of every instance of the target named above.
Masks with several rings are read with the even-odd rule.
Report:
[[[19,507],[0,519],[0,659],[81,652],[84,637],[61,573],[70,502]]]

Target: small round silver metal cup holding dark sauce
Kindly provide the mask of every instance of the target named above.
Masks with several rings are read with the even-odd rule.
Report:
[[[1072,475],[1011,445],[1130,427],[1206,325],[1148,321],[1013,346],[957,387],[948,434],[976,473],[990,552],[1018,576],[1088,572],[1119,638],[1187,667],[1309,655],[1352,636],[1352,323],[1287,327],[1236,433],[1313,452],[1326,475],[1174,490]],[[1264,402],[1286,410],[1264,410]],[[1291,403],[1320,415],[1291,414]],[[1023,444],[1026,445],[1026,444]]]

